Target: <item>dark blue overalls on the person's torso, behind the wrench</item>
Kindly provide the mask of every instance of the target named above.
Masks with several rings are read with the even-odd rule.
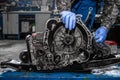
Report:
[[[85,22],[89,9],[92,8],[89,27],[91,28],[96,14],[97,0],[79,0],[71,9],[76,14],[82,14],[82,21]]]

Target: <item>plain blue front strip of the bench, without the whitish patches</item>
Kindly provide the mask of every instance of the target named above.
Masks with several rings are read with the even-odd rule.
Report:
[[[0,80],[120,80],[120,76],[78,72],[5,72],[0,75]]]

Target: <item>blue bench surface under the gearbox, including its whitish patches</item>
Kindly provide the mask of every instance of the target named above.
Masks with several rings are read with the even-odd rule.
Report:
[[[83,72],[17,72],[4,69],[0,80],[120,80],[120,64],[103,69]]]

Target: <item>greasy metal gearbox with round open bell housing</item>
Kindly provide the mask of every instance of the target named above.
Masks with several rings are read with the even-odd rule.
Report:
[[[38,70],[60,69],[74,62],[83,63],[98,57],[93,46],[93,34],[80,20],[76,28],[69,31],[60,18],[49,19],[46,32],[33,33],[27,39],[32,63]],[[100,52],[100,57],[103,53]]]

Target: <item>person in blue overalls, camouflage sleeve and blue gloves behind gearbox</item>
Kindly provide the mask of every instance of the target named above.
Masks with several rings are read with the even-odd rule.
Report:
[[[65,24],[65,28],[69,30],[75,29],[76,15],[82,15],[82,21],[87,24],[91,30],[95,19],[97,9],[104,3],[103,12],[101,15],[101,26],[95,31],[95,41],[103,43],[106,40],[107,33],[110,27],[115,23],[117,15],[119,13],[118,6],[120,6],[120,0],[71,0],[71,11],[62,11],[62,21]],[[88,19],[89,17],[89,19]]]

